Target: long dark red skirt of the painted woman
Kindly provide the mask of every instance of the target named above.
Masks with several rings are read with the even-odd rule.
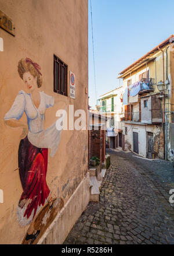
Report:
[[[44,206],[50,190],[46,183],[48,165],[48,149],[37,148],[28,138],[20,141],[18,152],[20,181],[23,193],[19,201],[19,207],[26,209],[24,218],[33,217],[37,213],[38,206]]]

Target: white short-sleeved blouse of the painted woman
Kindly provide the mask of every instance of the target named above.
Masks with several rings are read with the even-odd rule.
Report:
[[[44,120],[46,108],[53,107],[55,99],[52,96],[40,93],[39,107],[35,107],[32,96],[23,90],[19,91],[14,103],[8,113],[5,114],[4,120],[19,120],[24,113],[27,116],[28,123],[28,140],[38,148],[50,148],[50,156],[54,156],[60,142],[61,129],[56,129],[56,122],[48,129],[44,130]],[[63,121],[64,114],[60,117]]]

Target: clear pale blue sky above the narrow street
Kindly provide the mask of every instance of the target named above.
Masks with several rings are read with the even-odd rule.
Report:
[[[122,85],[118,73],[174,34],[173,0],[88,0],[89,105]],[[96,93],[95,93],[96,92]]]

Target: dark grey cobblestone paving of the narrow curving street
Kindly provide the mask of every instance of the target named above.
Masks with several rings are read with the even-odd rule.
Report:
[[[112,150],[108,153],[111,166],[100,201],[89,202],[64,244],[174,244],[174,206],[169,204],[172,169],[171,180],[163,183],[158,160],[136,159],[132,153]],[[171,167],[169,162],[162,164],[164,171]]]

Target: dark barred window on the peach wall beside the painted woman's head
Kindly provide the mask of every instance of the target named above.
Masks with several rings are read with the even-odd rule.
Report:
[[[67,96],[68,66],[54,55],[54,92]]]

